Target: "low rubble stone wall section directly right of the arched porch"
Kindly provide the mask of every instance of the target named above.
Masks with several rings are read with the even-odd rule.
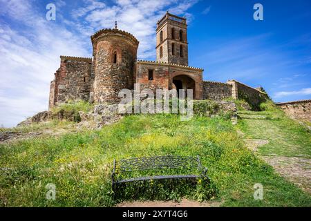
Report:
[[[232,97],[232,85],[203,81],[203,99],[222,100],[229,97]]]

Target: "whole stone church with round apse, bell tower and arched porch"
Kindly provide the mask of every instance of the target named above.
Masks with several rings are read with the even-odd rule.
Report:
[[[138,39],[117,29],[117,23],[96,32],[91,41],[92,58],[60,57],[60,68],[50,83],[49,108],[68,99],[117,102],[121,89],[133,89],[137,83],[153,90],[192,89],[194,99],[236,99],[245,92],[256,102],[263,93],[234,80],[203,81],[203,70],[188,64],[187,20],[169,12],[157,23],[156,61],[137,60]]]

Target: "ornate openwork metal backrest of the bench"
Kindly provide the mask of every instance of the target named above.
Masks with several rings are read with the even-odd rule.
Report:
[[[151,169],[175,169],[186,166],[200,168],[201,164],[199,157],[167,155],[120,160],[120,171],[122,172]]]

